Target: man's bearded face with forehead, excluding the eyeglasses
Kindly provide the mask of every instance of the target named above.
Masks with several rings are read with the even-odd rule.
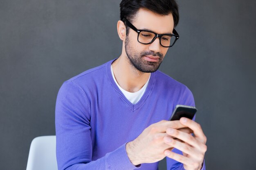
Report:
[[[159,15],[147,9],[139,9],[132,24],[139,30],[150,30],[157,34],[172,33],[172,14]],[[162,47],[159,38],[151,44],[140,44],[138,34],[129,29],[125,40],[125,50],[130,64],[141,72],[155,72],[162,63],[168,48]]]

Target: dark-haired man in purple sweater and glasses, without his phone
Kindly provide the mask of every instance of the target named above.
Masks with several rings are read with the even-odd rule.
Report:
[[[56,102],[59,170],[205,169],[206,137],[176,105],[194,106],[190,90],[158,71],[178,39],[175,0],[122,0],[122,53],[63,83]],[[190,133],[194,134],[192,136]]]

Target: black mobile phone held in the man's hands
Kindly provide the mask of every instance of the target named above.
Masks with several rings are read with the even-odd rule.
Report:
[[[192,120],[197,110],[198,109],[193,106],[176,105],[170,120],[180,120],[182,117]]]

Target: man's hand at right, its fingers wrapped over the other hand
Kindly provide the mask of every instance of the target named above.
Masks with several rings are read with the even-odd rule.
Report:
[[[166,133],[170,136],[165,136],[164,142],[169,147],[181,150],[183,155],[172,152],[173,148],[165,150],[164,153],[167,157],[183,163],[186,170],[200,170],[204,161],[204,154],[207,150],[205,145],[207,138],[200,124],[193,120],[181,118],[180,123],[191,129],[195,136],[179,131],[177,128],[168,128]],[[174,137],[183,142],[173,139]]]

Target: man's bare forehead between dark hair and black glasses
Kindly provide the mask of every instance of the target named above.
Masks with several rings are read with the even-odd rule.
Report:
[[[137,12],[133,25],[137,29],[148,29],[156,33],[171,33],[174,27],[173,15],[159,15],[148,9],[141,8]]]

